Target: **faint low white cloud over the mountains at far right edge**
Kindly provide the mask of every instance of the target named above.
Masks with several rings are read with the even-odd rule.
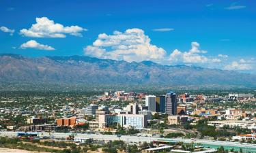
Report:
[[[233,61],[229,65],[226,65],[224,69],[227,70],[251,70],[253,69],[252,61],[246,61],[243,58],[240,61]]]

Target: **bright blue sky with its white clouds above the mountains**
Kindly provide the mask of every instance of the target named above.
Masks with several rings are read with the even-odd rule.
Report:
[[[256,1],[245,0],[1,0],[0,53],[151,60],[256,73],[255,7]],[[31,29],[32,24],[40,29]]]

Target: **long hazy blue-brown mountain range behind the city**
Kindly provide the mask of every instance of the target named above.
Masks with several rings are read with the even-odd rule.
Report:
[[[128,63],[89,56],[29,58],[0,54],[0,82],[256,86],[256,75],[152,61]]]

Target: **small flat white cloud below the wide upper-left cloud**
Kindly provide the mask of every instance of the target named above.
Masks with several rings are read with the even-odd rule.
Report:
[[[26,43],[22,44],[20,48],[21,49],[33,48],[38,50],[55,50],[55,48],[48,45],[39,44],[35,40],[27,41]]]

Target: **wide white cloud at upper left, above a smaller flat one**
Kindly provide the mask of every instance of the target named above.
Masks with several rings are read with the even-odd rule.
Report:
[[[36,23],[29,29],[21,29],[20,35],[26,37],[66,37],[66,34],[82,37],[81,32],[87,31],[79,26],[64,27],[46,17],[35,18]]]

